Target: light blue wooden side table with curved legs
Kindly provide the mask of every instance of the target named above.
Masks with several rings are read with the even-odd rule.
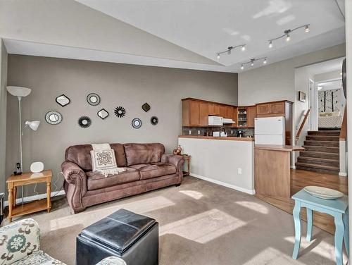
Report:
[[[301,207],[307,209],[307,240],[312,238],[313,229],[313,211],[320,211],[321,213],[330,214],[334,216],[335,221],[335,254],[336,264],[342,265],[342,242],[345,244],[347,255],[348,251],[348,196],[344,195],[339,199],[319,199],[310,195],[305,190],[300,190],[294,196],[294,253],[293,259],[297,259],[299,246],[301,245]]]

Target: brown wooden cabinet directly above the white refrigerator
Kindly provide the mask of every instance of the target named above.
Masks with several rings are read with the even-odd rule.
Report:
[[[274,101],[260,103],[256,105],[257,117],[273,117],[273,116],[287,116],[290,115],[292,111],[292,102],[283,100],[283,101]]]

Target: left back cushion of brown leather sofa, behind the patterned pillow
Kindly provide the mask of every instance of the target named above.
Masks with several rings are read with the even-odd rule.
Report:
[[[116,163],[119,167],[127,166],[125,149],[122,144],[110,144],[115,151]],[[65,153],[65,160],[71,161],[84,171],[92,171],[92,158],[90,152],[93,150],[92,144],[80,144],[68,147]]]

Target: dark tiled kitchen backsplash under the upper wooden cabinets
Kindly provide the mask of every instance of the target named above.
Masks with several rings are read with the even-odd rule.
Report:
[[[182,127],[182,135],[208,135],[213,136],[213,132],[218,132],[220,127]],[[237,137],[237,131],[243,132],[243,137],[254,136],[253,128],[225,128],[227,136]],[[189,133],[191,132],[191,133]]]

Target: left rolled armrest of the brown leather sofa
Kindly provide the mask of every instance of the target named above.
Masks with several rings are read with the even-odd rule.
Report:
[[[82,197],[87,192],[87,175],[80,166],[70,161],[63,162],[61,170],[65,181],[69,184],[65,187],[68,204],[75,213],[84,210]]]

